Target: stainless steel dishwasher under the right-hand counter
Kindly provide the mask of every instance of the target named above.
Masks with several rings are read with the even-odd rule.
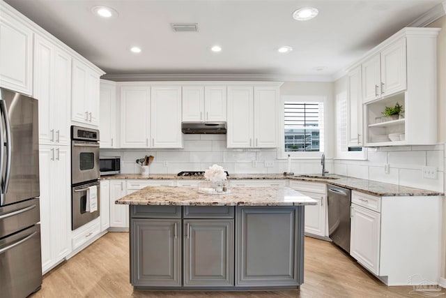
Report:
[[[351,190],[327,184],[327,193],[329,237],[349,253]]]

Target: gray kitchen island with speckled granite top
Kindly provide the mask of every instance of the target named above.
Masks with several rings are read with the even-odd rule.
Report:
[[[288,187],[148,186],[130,204],[130,283],[135,289],[254,290],[303,283],[304,207]]]

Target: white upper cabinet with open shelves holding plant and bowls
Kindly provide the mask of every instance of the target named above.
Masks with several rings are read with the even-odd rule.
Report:
[[[405,28],[385,40],[362,64],[365,147],[436,144],[437,28]],[[380,82],[373,87],[369,62],[380,57]],[[402,106],[395,117],[386,107]]]

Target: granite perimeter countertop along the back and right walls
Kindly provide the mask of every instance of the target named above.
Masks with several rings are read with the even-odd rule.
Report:
[[[234,174],[229,176],[229,180],[237,179],[288,179],[296,181],[312,181],[319,183],[334,184],[337,186],[350,188],[354,191],[360,191],[362,193],[368,193],[370,195],[378,195],[381,197],[394,197],[394,196],[431,196],[431,195],[444,195],[444,193],[438,191],[429,191],[421,188],[413,188],[408,186],[399,186],[396,184],[388,184],[378,181],[371,181],[367,179],[358,179],[353,177],[346,177],[341,175],[331,175],[339,177],[339,179],[321,179],[312,177],[288,177],[283,174]],[[101,179],[145,179],[145,180],[204,180],[203,177],[190,177],[190,176],[177,176],[176,174],[151,174],[150,176],[142,176],[141,174],[118,174],[111,176],[103,176]],[[165,187],[165,186],[164,186]]]

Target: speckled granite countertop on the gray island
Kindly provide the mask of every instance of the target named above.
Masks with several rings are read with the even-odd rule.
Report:
[[[317,201],[289,187],[234,187],[225,195],[199,193],[196,187],[147,186],[116,204],[176,206],[302,206]]]

